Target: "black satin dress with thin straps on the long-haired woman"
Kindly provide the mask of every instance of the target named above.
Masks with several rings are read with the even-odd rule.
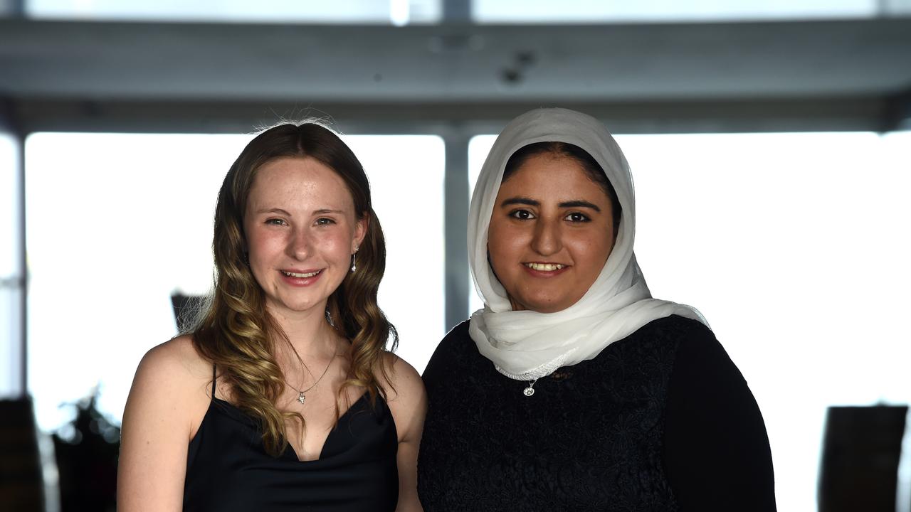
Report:
[[[300,461],[289,446],[266,454],[256,422],[215,398],[189,442],[183,509],[219,512],[378,511],[398,502],[398,437],[382,396],[364,394],[339,418],[320,458]]]

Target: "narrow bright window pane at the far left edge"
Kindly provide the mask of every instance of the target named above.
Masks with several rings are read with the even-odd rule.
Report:
[[[0,398],[22,389],[22,269],[19,268],[19,151],[0,133]]]

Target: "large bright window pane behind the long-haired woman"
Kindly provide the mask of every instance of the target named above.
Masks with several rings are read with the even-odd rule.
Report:
[[[119,423],[140,357],[176,333],[171,293],[210,289],[216,195],[250,138],[27,139],[29,389],[41,428],[66,421],[58,405],[96,385],[99,408]],[[371,178],[388,240],[380,306],[400,329],[399,353],[423,370],[444,333],[442,140],[345,139]]]

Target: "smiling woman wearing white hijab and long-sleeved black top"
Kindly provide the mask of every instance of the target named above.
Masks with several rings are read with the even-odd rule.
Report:
[[[775,509],[756,402],[699,312],[651,298],[635,219],[596,119],[538,109],[496,138],[468,220],[485,307],[424,374],[426,511]]]

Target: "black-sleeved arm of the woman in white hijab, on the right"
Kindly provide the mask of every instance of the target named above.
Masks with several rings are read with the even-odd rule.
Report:
[[[666,411],[664,465],[681,512],[775,510],[763,415],[708,329],[681,341]]]

